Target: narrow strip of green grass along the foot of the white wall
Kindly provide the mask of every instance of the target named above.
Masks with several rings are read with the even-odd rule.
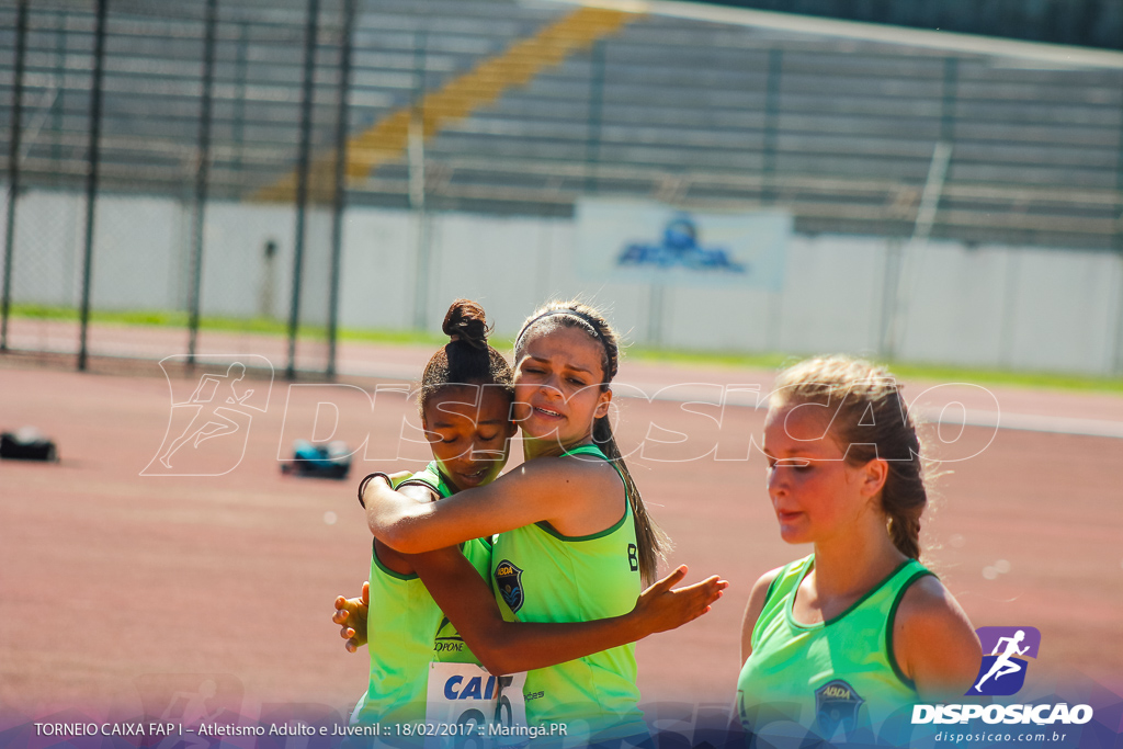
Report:
[[[44,320],[77,320],[77,310],[31,304],[13,304],[12,317],[36,318]],[[110,322],[116,325],[158,326],[185,328],[186,312],[128,311],[91,312],[92,322]],[[200,320],[200,327],[207,330],[236,330],[240,332],[259,332],[263,335],[285,336],[286,323],[272,319],[232,319],[206,317]],[[445,336],[418,330],[358,330],[339,329],[341,341],[366,341],[374,344],[394,344],[411,346],[438,347],[448,341]],[[305,340],[327,340],[327,328],[323,326],[301,326],[299,336]],[[511,337],[495,336],[492,345],[499,350],[510,350],[514,345]],[[833,353],[833,351],[831,351]],[[803,358],[791,354],[742,354],[722,351],[686,351],[675,349],[652,349],[639,345],[627,346],[624,357],[645,363],[666,363],[681,366],[718,366],[738,369],[763,369],[776,372],[786,365]],[[873,357],[877,360],[877,357]],[[1067,391],[1088,391],[1123,393],[1123,377],[1094,377],[1086,375],[1053,372],[1010,372],[1003,369],[977,369],[955,367],[940,364],[887,362],[892,372],[903,380],[930,380],[939,382],[970,382],[989,385],[1012,385],[1029,389],[1049,389]]]

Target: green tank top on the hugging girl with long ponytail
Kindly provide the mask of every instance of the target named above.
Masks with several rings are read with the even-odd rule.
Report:
[[[608,459],[592,445],[565,456]],[[623,504],[620,520],[600,533],[563,536],[547,522],[500,533],[492,577],[503,616],[578,622],[631,611],[640,594],[639,557],[631,506]],[[528,672],[523,694],[527,721],[565,723],[567,740],[647,734],[637,706],[636,643]]]

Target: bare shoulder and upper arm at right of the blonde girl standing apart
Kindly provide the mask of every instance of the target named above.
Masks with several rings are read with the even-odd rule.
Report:
[[[921,696],[964,694],[983,660],[966,612],[933,575],[905,588],[893,614],[894,657]]]

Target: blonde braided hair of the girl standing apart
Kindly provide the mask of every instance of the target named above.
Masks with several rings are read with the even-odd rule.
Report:
[[[834,414],[830,431],[850,465],[882,458],[888,465],[882,487],[886,531],[901,554],[920,558],[920,518],[928,504],[921,440],[888,371],[846,356],[806,359],[776,378],[769,405],[814,403]]]

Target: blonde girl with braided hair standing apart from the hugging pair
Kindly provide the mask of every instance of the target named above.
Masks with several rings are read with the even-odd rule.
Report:
[[[982,663],[967,615],[917,561],[926,493],[901,389],[860,360],[797,364],[776,381],[764,453],[780,537],[814,551],[752,588],[741,723],[758,738],[795,722],[806,740],[896,743],[886,731],[909,714],[886,723],[893,713],[962,695]]]

